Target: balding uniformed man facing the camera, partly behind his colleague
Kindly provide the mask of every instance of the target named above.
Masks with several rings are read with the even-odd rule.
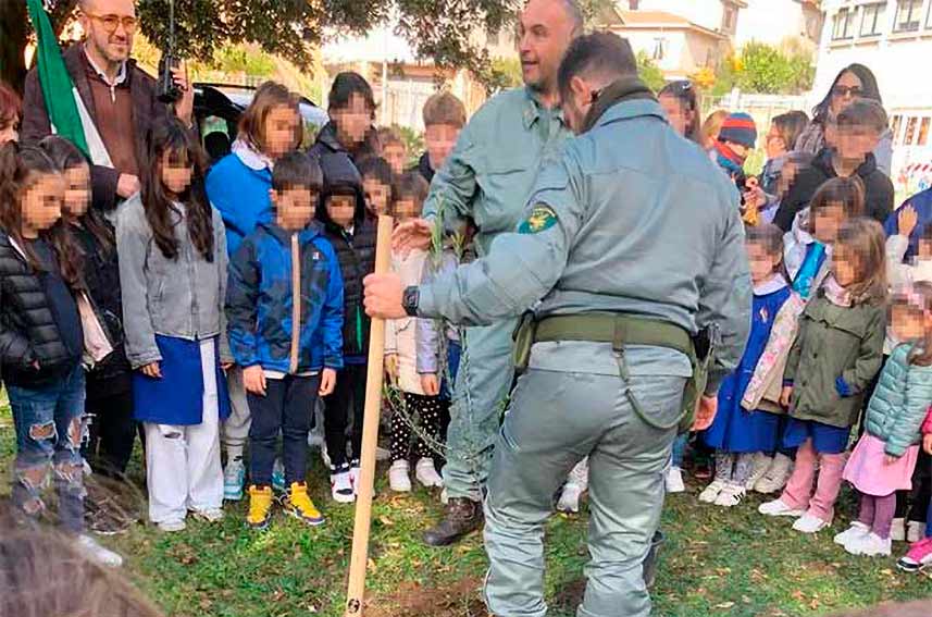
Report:
[[[525,4],[519,23],[524,87],[497,95],[473,115],[431,183],[424,220],[400,225],[396,237],[413,236],[409,246],[426,249],[438,218],[448,227],[471,219],[482,256],[499,234],[514,230],[542,161],[571,136],[559,108],[557,69],[582,26],[575,0]],[[514,374],[514,325],[508,316],[465,330],[443,470],[449,503],[444,520],[424,534],[427,544],[450,544],[482,526],[481,490]]]

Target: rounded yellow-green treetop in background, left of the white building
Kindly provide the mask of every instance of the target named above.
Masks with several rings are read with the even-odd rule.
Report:
[[[735,81],[743,91],[766,95],[796,95],[808,90],[816,75],[812,55],[751,41],[737,58]]]

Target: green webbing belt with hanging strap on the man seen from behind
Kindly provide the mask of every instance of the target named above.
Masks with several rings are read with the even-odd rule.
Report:
[[[627,345],[646,345],[650,347],[667,347],[684,354],[695,372],[699,362],[689,333],[670,322],[617,313],[587,313],[573,316],[547,317],[533,324],[533,343],[557,341],[588,341],[592,343],[611,343],[618,361],[619,377],[624,382],[624,393],[634,411],[644,422],[657,430],[668,431],[681,424],[692,424],[693,404],[684,400],[683,414],[670,423],[659,423],[644,411],[637,397],[631,392],[631,380],[627,363],[624,360],[624,348]],[[532,343],[532,344],[533,344]],[[687,383],[687,391],[694,387]],[[687,393],[687,398],[691,398]],[[688,418],[687,418],[688,416]],[[688,420],[684,422],[684,420]]]

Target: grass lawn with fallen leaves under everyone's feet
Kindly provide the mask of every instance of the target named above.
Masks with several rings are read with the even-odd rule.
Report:
[[[0,410],[0,474],[10,477],[12,418]],[[164,535],[139,525],[104,543],[127,558],[126,571],[176,617],[302,617],[343,615],[352,534],[352,507],[324,498],[320,457],[312,457],[315,501],[325,526],[276,517],[269,532],[244,529],[245,504],[228,505],[220,525],[189,523]],[[479,536],[448,550],[419,541],[440,513],[425,491],[388,493],[380,468],[374,504],[366,616],[485,616],[479,588],[486,562]],[[141,478],[134,464],[132,476]],[[885,600],[932,595],[932,580],[898,572],[895,558],[848,556],[832,534],[846,527],[854,498],[844,493],[838,521],[816,539],[786,520],[757,515],[760,497],[732,510],[699,505],[697,488],[668,501],[656,615],[776,617],[823,615]],[[0,494],[8,495],[2,486]],[[550,615],[569,617],[583,590],[585,515],[555,517],[547,527]],[[902,553],[905,545],[897,545]]]

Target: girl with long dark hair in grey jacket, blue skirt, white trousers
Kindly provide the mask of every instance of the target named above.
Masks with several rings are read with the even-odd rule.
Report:
[[[135,417],[146,431],[149,518],[163,531],[182,531],[188,510],[223,518],[226,238],[186,127],[163,120],[146,141],[152,165],[116,224],[126,355],[136,371]]]

